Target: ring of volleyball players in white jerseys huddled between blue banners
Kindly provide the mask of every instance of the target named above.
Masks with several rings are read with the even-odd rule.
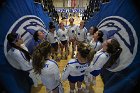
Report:
[[[48,31],[38,29],[33,33],[34,42],[29,47],[25,46],[20,34],[9,33],[8,61],[14,68],[29,73],[35,87],[41,81],[49,93],[64,93],[61,82],[66,80],[70,93],[93,93],[91,86],[95,84],[96,76],[102,68],[110,68],[116,63],[122,48],[115,38],[105,40],[98,28],[87,30],[83,20],[79,26],[74,24],[73,18],[69,22],[67,27],[61,22],[57,31],[52,22]],[[57,62],[67,59],[71,46],[71,59],[60,73]]]

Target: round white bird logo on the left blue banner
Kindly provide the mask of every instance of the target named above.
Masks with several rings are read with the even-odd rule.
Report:
[[[10,27],[7,34],[11,32],[16,32],[21,35],[21,38],[24,40],[24,43],[26,44],[29,40],[32,39],[33,33],[41,28],[45,31],[45,25],[43,21],[34,15],[26,15],[21,18],[19,18],[15,23]],[[7,37],[7,36],[6,36]],[[7,44],[7,39],[5,37],[4,41],[4,53],[5,55],[9,51],[10,47]]]

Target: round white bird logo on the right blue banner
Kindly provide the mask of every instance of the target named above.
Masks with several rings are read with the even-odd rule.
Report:
[[[138,38],[131,23],[119,16],[109,16],[103,19],[98,27],[104,32],[105,39],[116,38],[123,49],[117,64],[108,70],[116,72],[128,67],[136,56],[138,45]]]

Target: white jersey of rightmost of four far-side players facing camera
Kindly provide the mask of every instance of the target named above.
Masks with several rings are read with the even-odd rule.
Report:
[[[87,29],[84,27],[83,29],[80,29],[79,27],[77,27],[76,29],[76,38],[78,41],[86,41],[87,38]]]

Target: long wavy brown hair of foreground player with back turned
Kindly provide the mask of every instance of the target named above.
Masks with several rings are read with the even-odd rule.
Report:
[[[41,74],[41,69],[45,66],[45,60],[51,53],[51,45],[49,42],[41,42],[33,52],[32,55],[32,65],[35,73]]]

